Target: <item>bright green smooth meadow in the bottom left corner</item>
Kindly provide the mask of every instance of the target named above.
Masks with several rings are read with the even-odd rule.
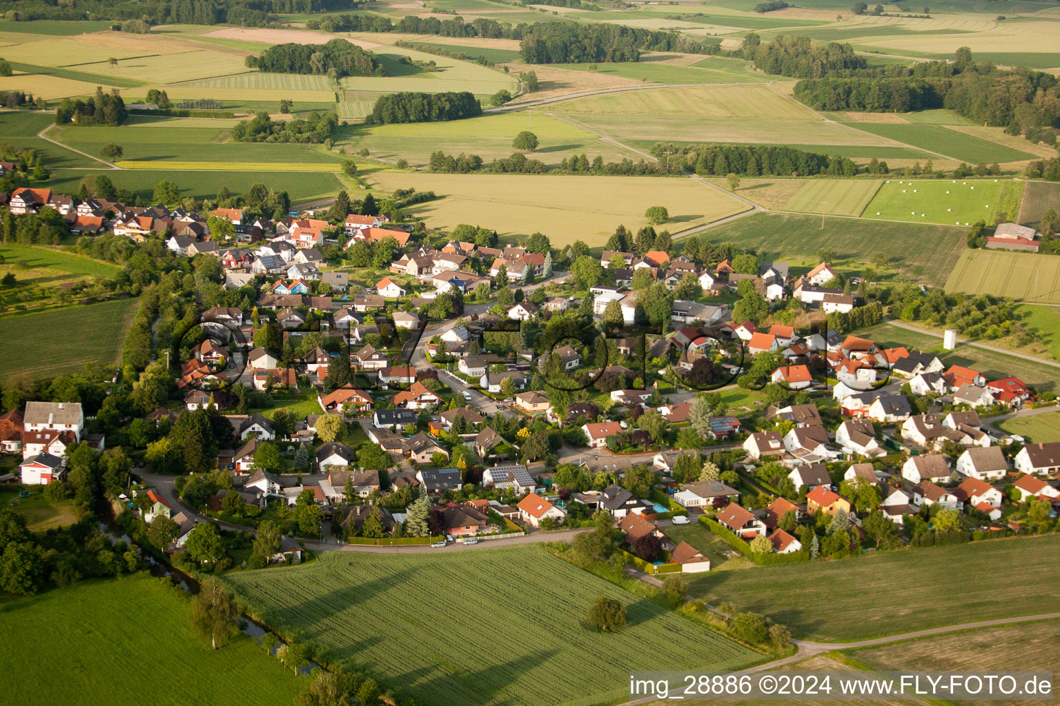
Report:
[[[5,597],[0,611],[4,629],[19,635],[0,645],[4,685],[24,706],[139,701],[145,683],[123,676],[130,664],[151,674],[158,703],[236,706],[253,693],[262,703],[289,704],[304,688],[244,635],[211,651],[192,633],[190,601],[146,574]],[[69,673],[63,678],[55,678],[49,660],[25,658],[28,650],[47,652],[56,645],[66,654]]]

